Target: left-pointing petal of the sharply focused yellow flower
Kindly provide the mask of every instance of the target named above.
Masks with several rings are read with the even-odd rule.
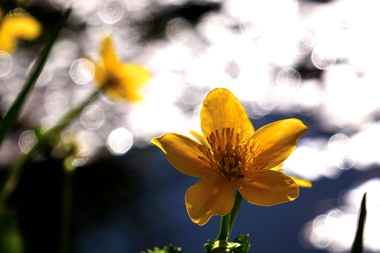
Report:
[[[196,147],[199,143],[185,135],[169,133],[153,138],[150,142],[162,150],[168,161],[177,170],[188,176],[203,178],[215,173],[211,169],[201,169],[210,165],[197,157],[204,156]]]

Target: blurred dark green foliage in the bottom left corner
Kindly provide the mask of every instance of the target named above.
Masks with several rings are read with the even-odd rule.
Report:
[[[0,212],[0,252],[24,252],[24,241],[16,223],[16,215],[4,210]]]

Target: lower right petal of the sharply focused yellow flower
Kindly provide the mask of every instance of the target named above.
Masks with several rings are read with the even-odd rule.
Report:
[[[283,202],[294,200],[298,197],[299,189],[293,179],[287,174],[275,170],[261,170],[262,174],[251,174],[244,179],[239,179],[241,189],[240,194],[249,203],[260,206],[271,206]],[[255,178],[255,176],[260,176]],[[245,187],[244,187],[245,186]]]

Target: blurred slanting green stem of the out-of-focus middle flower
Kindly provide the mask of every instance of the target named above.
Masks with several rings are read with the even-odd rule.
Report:
[[[14,189],[16,189],[16,186],[20,181],[22,167],[24,167],[25,162],[27,162],[27,160],[32,157],[38,150],[47,152],[47,149],[51,149],[51,147],[56,146],[59,141],[59,134],[63,128],[65,128],[68,124],[71,123],[74,118],[81,114],[82,110],[95,99],[97,99],[105,89],[106,86],[104,86],[104,88],[101,90],[96,90],[93,92],[87,100],[82,102],[82,104],[80,104],[78,107],[75,107],[67,112],[66,115],[64,115],[57,124],[46,130],[46,132],[40,135],[38,132],[36,132],[36,135],[38,135],[38,142],[36,145],[34,145],[27,154],[22,154],[17,157],[14,163],[9,167],[6,182],[3,184],[2,192],[0,193],[0,206],[5,205],[9,197],[14,192]]]

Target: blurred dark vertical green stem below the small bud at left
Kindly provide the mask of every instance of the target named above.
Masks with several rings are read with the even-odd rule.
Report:
[[[62,192],[62,226],[60,253],[69,253],[71,250],[70,243],[70,225],[71,210],[73,201],[73,174],[75,168],[64,167],[63,192]]]

